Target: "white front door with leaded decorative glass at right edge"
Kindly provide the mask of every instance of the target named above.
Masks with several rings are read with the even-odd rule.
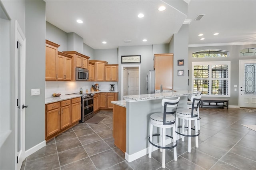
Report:
[[[256,60],[239,60],[240,107],[256,107]]]

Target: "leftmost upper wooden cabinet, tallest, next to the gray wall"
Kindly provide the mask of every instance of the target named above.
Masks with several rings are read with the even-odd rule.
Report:
[[[58,47],[60,45],[45,40],[45,80],[57,80],[58,76]]]

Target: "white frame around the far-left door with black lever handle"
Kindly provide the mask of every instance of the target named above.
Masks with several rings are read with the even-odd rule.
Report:
[[[17,42],[22,46],[20,56],[20,80],[18,80],[18,49]],[[22,109],[22,104],[25,104],[25,71],[26,71],[26,39],[18,24],[15,21],[15,169],[20,169],[22,161],[25,159],[25,108]],[[20,101],[18,99],[18,81],[20,81]],[[18,113],[18,107],[20,107],[20,113]],[[18,155],[18,114],[20,114],[21,120],[21,133],[20,133],[20,153]]]

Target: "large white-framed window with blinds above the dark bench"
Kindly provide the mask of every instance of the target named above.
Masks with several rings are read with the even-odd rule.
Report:
[[[230,61],[192,62],[192,91],[230,97]]]

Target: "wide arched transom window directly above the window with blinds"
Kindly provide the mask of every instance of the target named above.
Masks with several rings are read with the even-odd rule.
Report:
[[[193,58],[228,57],[228,51],[220,49],[205,49],[192,54]]]

